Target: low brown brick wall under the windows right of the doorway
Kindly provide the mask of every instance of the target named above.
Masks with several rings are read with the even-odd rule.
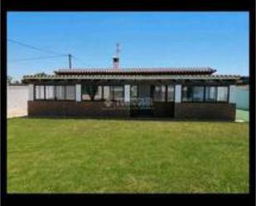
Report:
[[[235,119],[235,103],[176,103],[177,119]]]

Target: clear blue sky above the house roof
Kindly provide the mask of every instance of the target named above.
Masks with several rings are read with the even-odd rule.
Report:
[[[8,12],[7,74],[68,68],[205,67],[249,75],[248,12]],[[19,41],[42,50],[20,46]],[[37,60],[24,60],[39,58]]]

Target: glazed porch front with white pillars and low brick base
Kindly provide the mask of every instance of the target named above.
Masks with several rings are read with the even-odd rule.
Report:
[[[234,120],[234,85],[31,84],[28,115]]]

